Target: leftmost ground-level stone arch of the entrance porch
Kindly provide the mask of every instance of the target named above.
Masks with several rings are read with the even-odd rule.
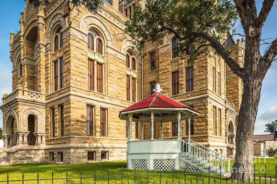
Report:
[[[14,119],[14,122],[12,122]],[[11,135],[11,125],[18,131],[18,119],[13,109],[8,109],[3,121],[3,135]],[[14,132],[14,130],[12,130]]]

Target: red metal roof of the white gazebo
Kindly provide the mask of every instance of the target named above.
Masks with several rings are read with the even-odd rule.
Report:
[[[121,110],[120,113],[149,107],[188,108],[200,113],[199,111],[161,93],[154,93],[151,96],[129,106],[128,108]]]

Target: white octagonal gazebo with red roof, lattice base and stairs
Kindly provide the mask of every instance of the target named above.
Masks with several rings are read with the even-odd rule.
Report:
[[[220,153],[202,146],[190,139],[190,121],[200,114],[199,111],[180,103],[164,94],[159,83],[156,84],[154,94],[123,109],[119,118],[127,121],[128,168],[136,170],[184,170],[211,173],[224,171],[225,160],[230,159]],[[188,121],[188,141],[181,140],[181,123]],[[132,141],[132,123],[138,121],[141,128],[141,140]],[[177,139],[163,139],[163,122],[177,121]],[[143,122],[151,123],[151,140],[142,140]],[[161,138],[154,140],[154,122],[159,122]],[[198,170],[196,169],[198,167]]]

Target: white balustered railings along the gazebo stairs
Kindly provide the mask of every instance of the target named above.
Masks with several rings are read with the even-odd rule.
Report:
[[[211,150],[210,148],[207,148],[203,146],[202,144],[199,144],[195,141],[188,140],[188,142],[185,142],[183,140],[181,141],[181,153],[188,152],[189,155],[192,155],[192,158],[195,157],[199,159],[203,164],[209,164],[211,167],[211,170],[213,170],[212,167],[216,167],[216,169],[221,168],[221,171],[225,169],[225,161],[227,160],[227,171],[230,172],[230,161],[231,159],[228,158],[225,155],[222,155],[216,151]]]

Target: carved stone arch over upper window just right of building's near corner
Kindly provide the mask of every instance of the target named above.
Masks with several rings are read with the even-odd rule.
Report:
[[[113,47],[114,45],[108,27],[103,23],[101,19],[92,14],[86,14],[81,18],[79,22],[79,29],[81,29],[81,31],[84,33],[87,33],[87,31],[90,29],[94,29],[98,32],[99,35],[101,35],[103,44],[110,47]],[[105,52],[104,47],[102,52]]]

